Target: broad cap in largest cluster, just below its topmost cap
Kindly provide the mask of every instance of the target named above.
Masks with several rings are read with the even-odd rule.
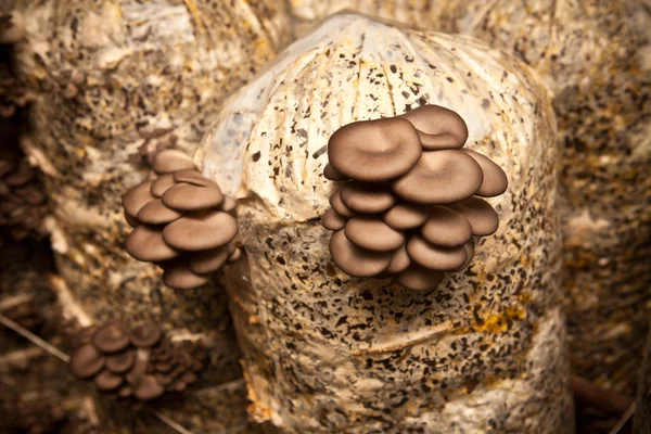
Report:
[[[473,195],[484,173],[468,154],[457,150],[423,152],[407,175],[395,180],[401,197],[424,204],[447,204]]]

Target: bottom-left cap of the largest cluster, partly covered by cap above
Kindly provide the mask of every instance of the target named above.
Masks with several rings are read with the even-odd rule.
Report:
[[[348,276],[370,278],[384,271],[391,263],[391,252],[371,252],[353,244],[344,231],[330,239],[330,254],[334,263]]]

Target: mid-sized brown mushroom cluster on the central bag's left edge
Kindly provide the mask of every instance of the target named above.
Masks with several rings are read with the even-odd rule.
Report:
[[[169,288],[201,286],[241,255],[235,201],[180,151],[158,153],[152,168],[149,179],[123,197],[125,217],[135,228],[127,252],[163,267]]]

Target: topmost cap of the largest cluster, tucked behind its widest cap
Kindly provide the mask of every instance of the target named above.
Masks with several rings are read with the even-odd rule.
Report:
[[[425,150],[459,149],[468,140],[468,126],[457,112],[441,105],[423,105],[400,115],[421,131]]]

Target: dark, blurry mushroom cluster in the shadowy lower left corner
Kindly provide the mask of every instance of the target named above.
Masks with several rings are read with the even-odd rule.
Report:
[[[73,339],[72,347],[75,376],[92,381],[104,394],[139,400],[184,391],[206,359],[203,346],[173,343],[150,322],[132,330],[117,320],[91,326]]]

